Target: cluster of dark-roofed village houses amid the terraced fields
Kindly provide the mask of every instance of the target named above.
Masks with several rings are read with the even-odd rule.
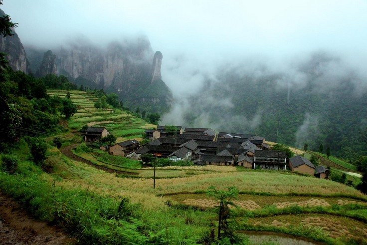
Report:
[[[326,178],[327,168],[315,167],[308,159],[295,156],[287,159],[286,152],[271,150],[265,138],[251,134],[216,132],[209,128],[158,126],[145,131],[151,141],[144,145],[127,140],[101,149],[112,155],[141,160],[142,154],[152,154],[172,161],[192,161],[195,165],[243,166],[248,169],[272,169],[299,172]],[[95,142],[108,136],[105,127],[88,127],[84,140]]]

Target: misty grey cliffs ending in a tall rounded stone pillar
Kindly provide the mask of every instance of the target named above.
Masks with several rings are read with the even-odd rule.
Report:
[[[112,42],[105,48],[78,40],[53,53],[44,54],[37,75],[65,75],[78,85],[103,88],[118,94],[131,109],[139,106],[162,113],[170,107],[173,95],[161,75],[163,55],[154,54],[146,37]]]

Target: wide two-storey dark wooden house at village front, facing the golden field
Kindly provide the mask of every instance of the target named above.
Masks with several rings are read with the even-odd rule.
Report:
[[[286,170],[287,154],[285,151],[255,150],[254,165],[262,169]]]

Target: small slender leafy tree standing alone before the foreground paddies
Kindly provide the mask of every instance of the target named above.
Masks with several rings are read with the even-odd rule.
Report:
[[[228,223],[228,219],[233,218],[232,211],[229,206],[237,207],[232,200],[238,195],[236,187],[228,188],[228,191],[216,190],[214,186],[210,186],[206,190],[206,195],[215,198],[218,212],[218,240],[228,240],[230,244],[241,244],[242,238],[235,234],[235,221]],[[234,223],[234,224],[233,224]]]

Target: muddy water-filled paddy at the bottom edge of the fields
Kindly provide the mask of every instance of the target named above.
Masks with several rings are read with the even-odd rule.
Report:
[[[300,238],[288,236],[288,235],[277,235],[276,233],[272,234],[263,234],[259,233],[249,233],[246,235],[249,237],[250,242],[253,244],[274,244],[274,245],[320,245],[317,242],[310,242],[306,240],[302,240]]]

